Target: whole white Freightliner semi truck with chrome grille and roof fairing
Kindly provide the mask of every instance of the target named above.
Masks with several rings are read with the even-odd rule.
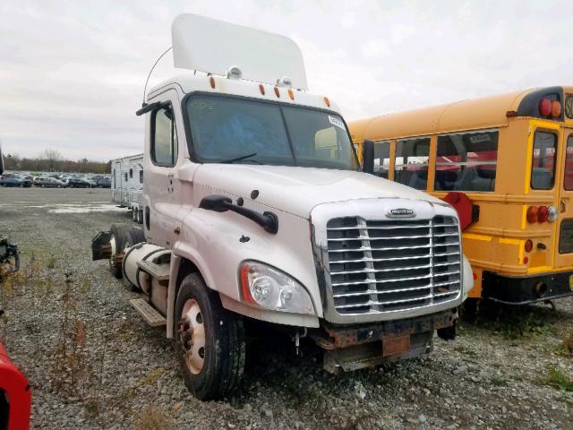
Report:
[[[435,331],[452,339],[473,287],[456,211],[360,170],[292,40],[192,14],[172,38],[175,67],[192,72],[138,111],[143,229],[114,225],[92,253],[166,327],[190,391],[237,386],[253,320],[295,346],[310,337],[331,372],[427,353]]]

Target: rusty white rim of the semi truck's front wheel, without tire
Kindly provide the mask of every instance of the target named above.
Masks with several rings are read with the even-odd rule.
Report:
[[[192,374],[201,373],[205,362],[205,325],[201,307],[192,298],[183,306],[179,322],[179,341],[189,371]]]

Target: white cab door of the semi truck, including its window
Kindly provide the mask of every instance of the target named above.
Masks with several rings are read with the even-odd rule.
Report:
[[[149,242],[169,248],[175,242],[175,228],[180,227],[176,218],[181,206],[180,185],[174,177],[180,159],[175,125],[176,115],[180,116],[180,103],[175,90],[167,90],[154,101],[163,104],[150,112],[148,120],[143,224]]]

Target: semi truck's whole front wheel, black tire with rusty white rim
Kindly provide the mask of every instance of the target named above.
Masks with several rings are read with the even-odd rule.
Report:
[[[198,274],[187,275],[179,288],[174,337],[184,383],[197,399],[235,390],[244,370],[243,320],[223,308]]]

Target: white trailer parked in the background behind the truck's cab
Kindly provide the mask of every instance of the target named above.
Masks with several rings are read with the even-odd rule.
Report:
[[[133,221],[143,222],[143,154],[112,160],[111,198],[133,211]]]

